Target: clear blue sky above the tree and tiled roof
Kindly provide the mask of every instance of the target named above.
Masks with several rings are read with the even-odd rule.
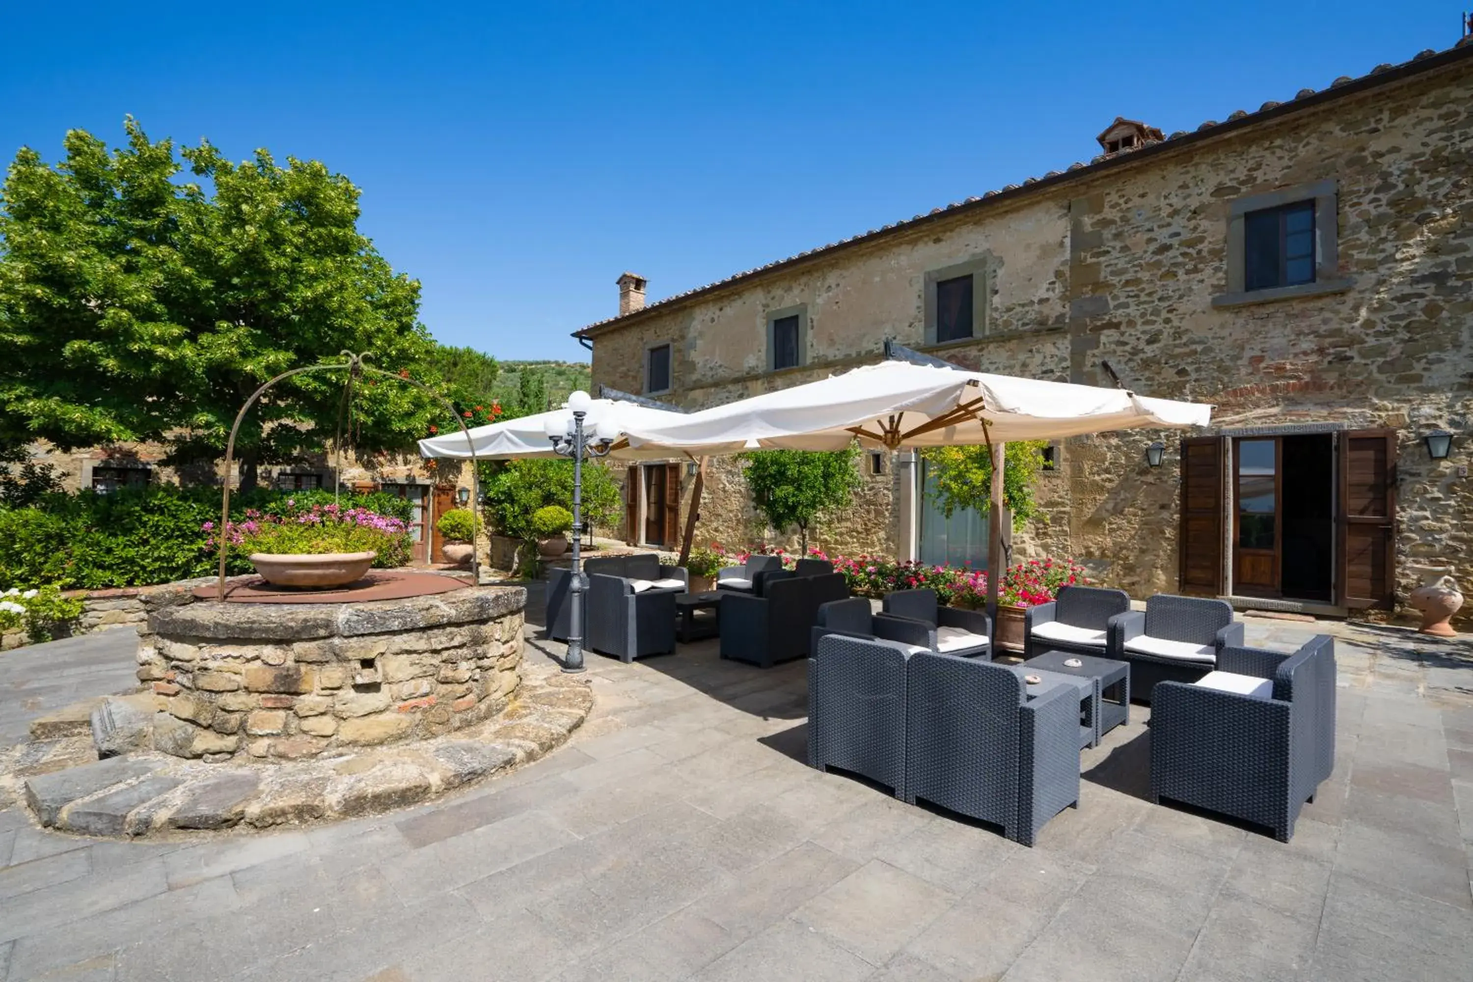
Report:
[[[442,342],[583,358],[658,299],[1458,40],[1430,3],[12,3],[0,155],[317,158]]]

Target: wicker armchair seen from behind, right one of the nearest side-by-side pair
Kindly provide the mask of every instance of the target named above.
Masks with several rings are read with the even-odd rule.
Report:
[[[1033,845],[1080,801],[1080,693],[1030,698],[1022,677],[978,658],[924,652],[906,661],[906,801],[925,799],[1000,824]]]

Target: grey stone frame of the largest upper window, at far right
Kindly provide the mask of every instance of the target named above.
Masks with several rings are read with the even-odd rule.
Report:
[[[1314,281],[1287,287],[1246,290],[1245,216],[1265,208],[1282,208],[1299,202],[1314,202]],[[1340,272],[1340,209],[1339,181],[1326,178],[1311,184],[1296,184],[1264,194],[1245,194],[1228,202],[1227,209],[1227,293],[1212,297],[1214,308],[1271,303],[1301,297],[1345,293],[1355,280]]]

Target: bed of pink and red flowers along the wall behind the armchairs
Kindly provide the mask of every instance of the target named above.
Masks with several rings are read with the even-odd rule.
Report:
[[[722,559],[722,565],[736,565],[747,561],[753,552],[767,554],[766,549],[728,551],[713,543],[711,552]],[[770,555],[782,557],[782,565],[791,570],[797,561],[797,554],[782,549],[770,551]],[[971,567],[931,565],[916,561],[896,561],[887,557],[841,557],[826,555],[820,549],[809,549],[815,559],[828,559],[834,564],[835,573],[843,573],[848,582],[848,592],[854,596],[881,598],[894,590],[935,590],[937,599],[947,607],[963,607],[980,610],[987,605],[987,571]],[[1047,604],[1059,595],[1061,586],[1087,583],[1084,567],[1074,559],[1025,559],[1003,571],[999,583],[997,602],[1003,607],[1034,607]]]

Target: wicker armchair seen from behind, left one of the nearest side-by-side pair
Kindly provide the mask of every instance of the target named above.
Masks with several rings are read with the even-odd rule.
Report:
[[[834,633],[818,640],[809,658],[810,767],[869,777],[906,799],[906,660],[921,651]]]

